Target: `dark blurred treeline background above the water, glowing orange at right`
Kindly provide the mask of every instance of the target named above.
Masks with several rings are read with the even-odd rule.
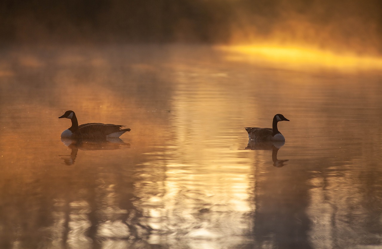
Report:
[[[277,40],[382,51],[380,0],[2,0],[0,21],[3,42]]]

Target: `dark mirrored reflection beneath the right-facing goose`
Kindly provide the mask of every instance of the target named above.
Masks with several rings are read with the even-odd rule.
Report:
[[[273,166],[280,168],[289,160],[278,160],[277,152],[283,147],[285,141],[259,141],[259,140],[249,140],[246,150],[272,150],[272,161]]]

